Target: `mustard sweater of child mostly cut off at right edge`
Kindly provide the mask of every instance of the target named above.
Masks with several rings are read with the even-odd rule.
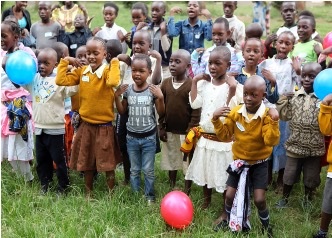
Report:
[[[332,135],[332,106],[320,104],[320,111],[318,115],[319,129],[324,135]],[[327,162],[329,167],[327,172],[332,172],[332,144],[330,143],[327,152]]]

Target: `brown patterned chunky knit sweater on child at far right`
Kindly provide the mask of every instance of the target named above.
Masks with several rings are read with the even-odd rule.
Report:
[[[319,130],[318,113],[320,100],[314,93],[303,88],[293,98],[282,96],[277,102],[281,120],[290,121],[290,136],[285,143],[287,156],[293,158],[323,156],[324,136]]]

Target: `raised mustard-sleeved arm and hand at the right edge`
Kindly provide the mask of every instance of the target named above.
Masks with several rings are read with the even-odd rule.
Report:
[[[327,95],[320,104],[318,123],[324,135],[332,134],[332,94]]]

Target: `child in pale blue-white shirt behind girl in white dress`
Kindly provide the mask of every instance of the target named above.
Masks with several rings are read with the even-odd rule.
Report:
[[[204,48],[198,48],[191,54],[191,66],[194,75],[209,74],[208,62],[211,51],[217,46],[226,46],[231,51],[231,66],[227,70],[230,73],[236,73],[242,66],[242,57],[239,58],[235,53],[235,49],[227,43],[227,39],[230,36],[229,23],[226,18],[217,18],[212,26],[212,40],[213,46],[205,50]]]

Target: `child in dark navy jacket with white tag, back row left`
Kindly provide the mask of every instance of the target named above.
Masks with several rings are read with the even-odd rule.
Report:
[[[84,15],[77,14],[74,20],[75,30],[73,32],[66,33],[64,27],[59,31],[58,41],[67,45],[71,57],[75,57],[77,48],[85,45],[92,36],[91,30],[86,25],[86,20]]]

